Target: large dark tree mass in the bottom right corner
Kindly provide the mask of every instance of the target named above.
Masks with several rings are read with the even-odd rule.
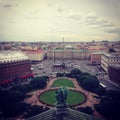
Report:
[[[95,109],[111,120],[120,119],[120,91],[108,90]]]

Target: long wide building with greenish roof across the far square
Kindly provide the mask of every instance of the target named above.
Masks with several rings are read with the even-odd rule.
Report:
[[[86,50],[52,49],[47,52],[49,60],[89,60],[90,53]]]

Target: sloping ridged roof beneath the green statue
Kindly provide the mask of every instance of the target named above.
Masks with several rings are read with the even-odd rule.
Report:
[[[100,118],[96,118],[92,115],[88,115],[86,113],[82,113],[70,108],[66,108],[61,112],[62,114],[58,114],[57,109],[52,108],[51,110],[47,110],[36,116],[28,118],[27,120],[61,120],[61,117],[62,117],[62,120],[102,120]]]

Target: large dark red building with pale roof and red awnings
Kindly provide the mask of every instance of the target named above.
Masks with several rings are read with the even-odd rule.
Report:
[[[30,59],[24,53],[0,51],[0,85],[31,76]]]

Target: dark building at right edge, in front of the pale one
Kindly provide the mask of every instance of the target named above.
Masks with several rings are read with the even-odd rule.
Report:
[[[119,67],[110,66],[108,69],[108,75],[112,82],[120,86],[120,66]]]

